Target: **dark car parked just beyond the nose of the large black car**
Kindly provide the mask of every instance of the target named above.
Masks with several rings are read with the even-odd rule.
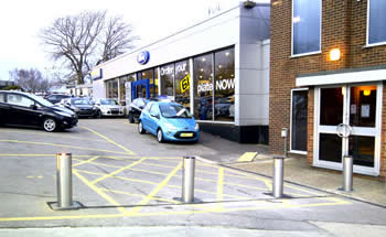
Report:
[[[66,107],[69,108],[77,108],[77,115],[79,117],[94,117],[94,118],[100,118],[100,109],[96,106],[94,106],[94,103],[85,97],[75,97],[69,98],[65,103]]]

